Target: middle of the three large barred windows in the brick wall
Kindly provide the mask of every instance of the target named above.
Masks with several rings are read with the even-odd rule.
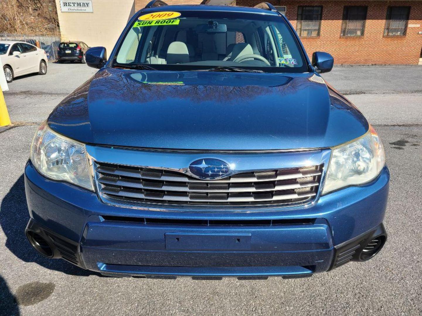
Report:
[[[363,36],[365,31],[366,6],[346,6],[343,11],[341,36]]]

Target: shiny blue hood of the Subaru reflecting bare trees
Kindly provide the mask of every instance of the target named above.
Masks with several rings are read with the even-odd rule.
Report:
[[[363,115],[312,76],[103,68],[48,123],[84,143],[195,150],[322,148],[364,134]]]

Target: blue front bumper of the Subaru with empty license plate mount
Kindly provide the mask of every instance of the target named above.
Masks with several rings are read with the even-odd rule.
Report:
[[[29,162],[27,230],[46,238],[52,257],[105,275],[310,276],[337,267],[338,258],[359,260],[364,241],[386,236],[389,177],[385,167],[367,185],[279,212],[157,212],[106,205],[95,193],[44,178]]]

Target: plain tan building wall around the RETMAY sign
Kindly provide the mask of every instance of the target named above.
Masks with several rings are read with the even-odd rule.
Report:
[[[104,46],[107,54],[116,44],[127,20],[135,13],[135,0],[92,0],[94,12],[61,12],[56,0],[62,40],[81,40]]]

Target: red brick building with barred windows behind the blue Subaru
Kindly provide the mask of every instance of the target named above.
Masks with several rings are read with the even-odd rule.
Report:
[[[200,0],[164,0],[199,4]],[[233,0],[211,0],[229,4]],[[149,0],[135,0],[135,10]],[[260,0],[236,0],[254,6]],[[326,51],[337,64],[418,64],[422,53],[422,0],[271,0],[298,32],[306,51]]]

